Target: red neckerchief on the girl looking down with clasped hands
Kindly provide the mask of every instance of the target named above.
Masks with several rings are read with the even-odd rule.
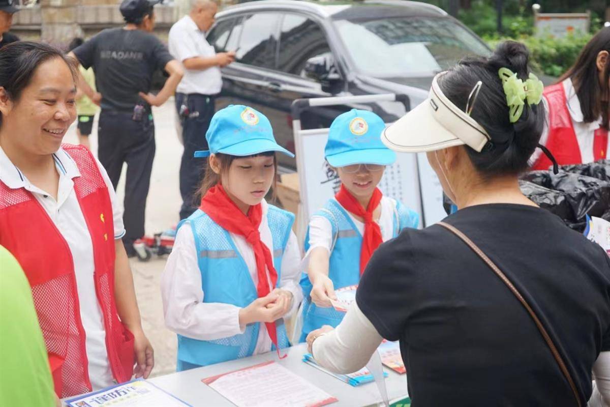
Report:
[[[239,207],[229,198],[224,191],[222,185],[215,185],[210,188],[206,195],[201,198],[201,211],[212,218],[212,220],[221,228],[231,233],[245,237],[246,242],[254,250],[254,259],[256,259],[256,274],[259,278],[256,287],[256,293],[259,298],[265,297],[271,292],[268,280],[271,281],[271,287],[275,287],[278,281],[278,272],[273,267],[273,256],[271,251],[260,240],[259,226],[262,220],[262,206],[259,204],[250,206],[248,216],[240,211]],[[267,270],[269,270],[269,278],[267,279]],[[271,342],[278,350],[278,332],[275,322],[265,322],[267,333],[271,338]],[[285,355],[284,355],[285,357]]]

